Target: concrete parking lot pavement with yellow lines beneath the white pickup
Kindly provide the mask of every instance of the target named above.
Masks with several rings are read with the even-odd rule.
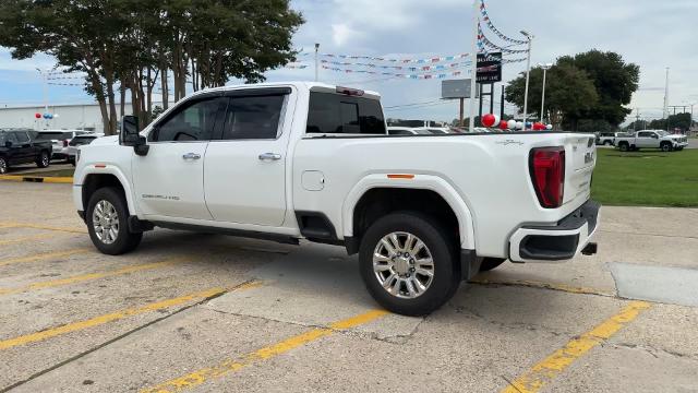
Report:
[[[99,254],[70,191],[0,182],[0,392],[698,391],[698,308],[653,298],[698,269],[696,210],[604,207],[599,254],[407,318],[341,248],[158,229]]]

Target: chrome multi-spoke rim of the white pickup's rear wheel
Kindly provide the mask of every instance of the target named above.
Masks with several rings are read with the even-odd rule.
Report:
[[[388,294],[413,299],[432,285],[434,261],[420,238],[408,233],[392,233],[383,237],[373,251],[373,272]]]

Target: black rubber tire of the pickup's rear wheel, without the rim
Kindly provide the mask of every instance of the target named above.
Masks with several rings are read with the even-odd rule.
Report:
[[[381,239],[392,233],[412,234],[426,246],[431,253],[433,278],[426,289],[417,297],[400,298],[389,294],[374,273],[374,251]],[[371,225],[361,240],[359,251],[361,277],[371,296],[387,310],[404,315],[424,315],[448,301],[460,285],[460,264],[457,263],[456,249],[457,242],[431,217],[416,212],[388,214]]]

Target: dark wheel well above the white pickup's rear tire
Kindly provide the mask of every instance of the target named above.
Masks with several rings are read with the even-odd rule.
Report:
[[[432,190],[375,188],[361,196],[353,211],[353,237],[347,245],[349,253],[356,253],[366,229],[380,217],[400,211],[413,211],[435,218],[456,245],[460,245],[458,217],[446,200]]]

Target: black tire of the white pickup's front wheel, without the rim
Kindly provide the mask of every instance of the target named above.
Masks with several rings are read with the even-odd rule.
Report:
[[[93,223],[93,215],[95,207],[100,201],[109,202],[116,210],[119,227],[116,239],[113,242],[106,243],[99,239],[95,230]],[[143,233],[132,233],[129,230],[129,210],[123,192],[119,189],[106,187],[98,189],[89,198],[87,203],[87,210],[85,211],[85,222],[87,224],[87,230],[89,231],[89,238],[93,245],[101,252],[109,255],[120,255],[129,251],[133,251],[141,243]]]

